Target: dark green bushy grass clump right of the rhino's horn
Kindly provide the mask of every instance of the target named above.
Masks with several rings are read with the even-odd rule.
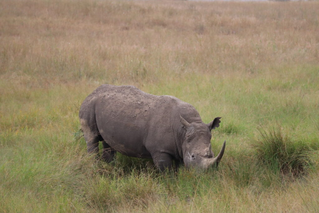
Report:
[[[299,177],[306,173],[313,161],[310,153],[316,148],[305,141],[294,141],[284,135],[281,127],[265,130],[258,129],[260,138],[257,139],[256,157],[272,169],[279,169],[285,175]]]

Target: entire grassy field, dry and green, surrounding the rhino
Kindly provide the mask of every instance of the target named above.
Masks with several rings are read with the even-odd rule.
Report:
[[[0,212],[318,212],[319,2],[0,0]],[[86,153],[78,111],[134,85],[222,117],[218,169]]]

